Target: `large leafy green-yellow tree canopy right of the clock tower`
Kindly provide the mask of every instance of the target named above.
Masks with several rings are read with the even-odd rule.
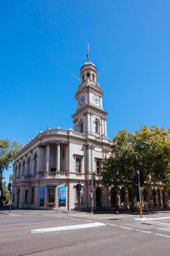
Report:
[[[134,172],[141,170],[144,186],[170,185],[170,129],[142,125],[136,133],[120,131],[113,139],[112,156],[103,160],[101,181],[115,188],[135,189]]]

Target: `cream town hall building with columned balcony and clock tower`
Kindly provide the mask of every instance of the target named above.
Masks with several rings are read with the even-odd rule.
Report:
[[[82,210],[90,210],[91,201],[94,207],[110,207],[110,190],[99,182],[101,160],[110,156],[108,113],[103,108],[97,69],[89,55],[81,67],[75,99],[73,129],[41,131],[15,156],[15,208],[75,210],[79,204],[77,183],[81,183]]]

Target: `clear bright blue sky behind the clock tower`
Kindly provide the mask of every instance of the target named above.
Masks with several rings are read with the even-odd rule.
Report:
[[[80,68],[100,72],[108,137],[170,127],[170,1],[17,0],[0,7],[0,137],[73,128]],[[7,175],[8,178],[8,175]],[[7,179],[8,181],[8,179]]]

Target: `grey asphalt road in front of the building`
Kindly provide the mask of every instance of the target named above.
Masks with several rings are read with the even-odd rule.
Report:
[[[145,217],[145,216],[144,216]],[[0,255],[170,255],[170,212],[139,216],[55,211],[0,212]],[[134,220],[139,218],[139,220]],[[148,219],[150,218],[150,219]],[[32,233],[30,230],[104,226]]]

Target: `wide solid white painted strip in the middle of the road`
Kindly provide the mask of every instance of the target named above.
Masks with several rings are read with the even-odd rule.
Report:
[[[28,231],[29,233],[45,233],[45,232],[55,232],[55,231],[62,231],[62,230],[75,230],[81,228],[93,228],[97,226],[105,226],[105,224],[100,222],[89,223],[89,224],[80,224],[80,225],[73,225],[73,226],[58,226],[54,228],[38,228],[32,229]]]

